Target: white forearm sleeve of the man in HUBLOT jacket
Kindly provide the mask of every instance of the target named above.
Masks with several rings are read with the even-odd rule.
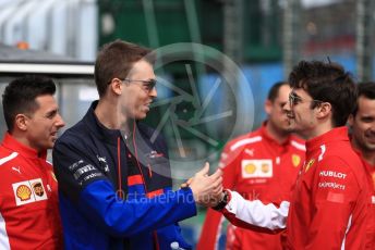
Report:
[[[289,201],[282,201],[280,208],[275,204],[264,204],[259,200],[245,200],[240,193],[230,191],[231,200],[226,209],[242,222],[268,229],[286,227],[289,212]]]

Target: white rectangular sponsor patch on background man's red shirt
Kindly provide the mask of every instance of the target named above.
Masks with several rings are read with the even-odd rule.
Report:
[[[273,161],[242,160],[241,172],[243,178],[273,177]]]

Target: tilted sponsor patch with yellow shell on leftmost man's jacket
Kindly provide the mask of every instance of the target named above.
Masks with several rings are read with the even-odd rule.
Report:
[[[47,200],[41,178],[12,184],[15,204],[23,205],[35,201]]]

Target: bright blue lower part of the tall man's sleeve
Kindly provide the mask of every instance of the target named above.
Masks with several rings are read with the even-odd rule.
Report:
[[[97,180],[81,193],[80,210],[116,236],[131,237],[144,230],[171,225],[196,214],[190,188],[169,191],[153,199],[123,201],[117,199],[111,185]]]

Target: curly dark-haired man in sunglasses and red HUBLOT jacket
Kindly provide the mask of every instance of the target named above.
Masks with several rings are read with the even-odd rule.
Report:
[[[287,226],[285,249],[364,249],[368,183],[344,126],[356,102],[354,82],[339,64],[301,61],[289,83],[285,109],[291,128],[306,139],[290,208],[287,201],[265,205],[225,190],[215,209],[237,226]]]

